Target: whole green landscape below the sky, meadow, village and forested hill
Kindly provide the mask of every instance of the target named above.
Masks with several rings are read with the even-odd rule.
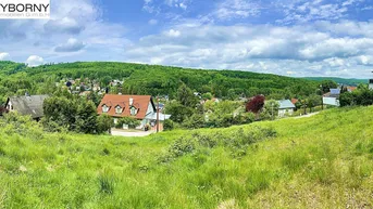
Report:
[[[0,77],[0,208],[373,206],[373,82],[76,65]]]

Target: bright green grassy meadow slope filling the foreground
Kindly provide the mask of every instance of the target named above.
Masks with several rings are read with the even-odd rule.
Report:
[[[0,208],[372,208],[372,115],[144,139],[0,122]]]

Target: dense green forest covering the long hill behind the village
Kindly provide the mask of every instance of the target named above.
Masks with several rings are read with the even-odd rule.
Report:
[[[124,81],[124,94],[176,96],[185,83],[196,92],[216,97],[264,94],[274,99],[308,96],[316,93],[319,81],[237,70],[204,70],[129,63],[62,63],[28,67],[0,62],[0,100],[9,95],[53,93],[55,82],[88,79],[105,87],[113,79]]]

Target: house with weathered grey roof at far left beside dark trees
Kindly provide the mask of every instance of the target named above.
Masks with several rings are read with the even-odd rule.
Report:
[[[29,115],[35,120],[43,116],[42,104],[48,95],[12,96],[7,100],[8,112],[17,112],[21,115]]]

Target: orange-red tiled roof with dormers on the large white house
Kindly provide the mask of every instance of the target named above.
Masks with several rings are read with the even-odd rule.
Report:
[[[136,116],[130,115],[130,106],[129,106],[129,99],[133,99],[133,106],[138,109]],[[101,100],[100,105],[97,107],[97,113],[102,114],[102,106],[107,105],[109,107],[109,112],[104,113],[112,117],[135,117],[137,119],[144,119],[147,110],[149,102],[151,102],[150,95],[117,95],[117,94],[105,94]],[[122,114],[115,113],[115,107],[121,106],[123,108]]]

